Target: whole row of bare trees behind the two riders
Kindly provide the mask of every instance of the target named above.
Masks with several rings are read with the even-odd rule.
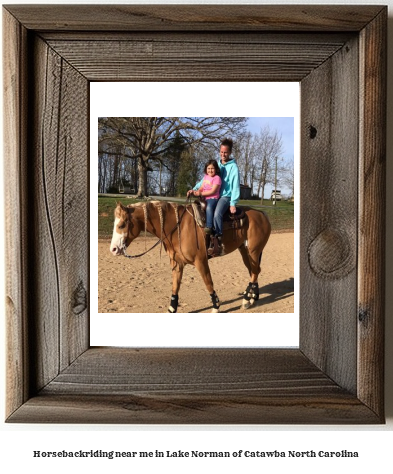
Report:
[[[99,119],[98,191],[131,188],[138,197],[185,195],[209,159],[218,159],[222,138],[234,139],[240,182],[265,197],[267,184],[293,194],[293,159],[283,162],[280,133],[265,126],[246,130],[244,117],[103,117]]]

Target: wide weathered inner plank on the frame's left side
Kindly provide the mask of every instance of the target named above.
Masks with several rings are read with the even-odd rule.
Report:
[[[32,149],[36,152],[30,180],[35,378],[37,387],[42,387],[88,347],[88,86],[38,37],[34,56]]]

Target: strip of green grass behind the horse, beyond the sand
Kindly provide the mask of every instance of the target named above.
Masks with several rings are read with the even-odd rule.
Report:
[[[175,199],[174,199],[175,200]],[[117,202],[125,206],[140,202],[138,199],[127,199],[123,196],[98,196],[98,237],[107,238],[113,231],[113,211]],[[176,198],[177,202],[184,203],[185,198]],[[265,199],[263,206],[260,201],[240,201],[239,205],[250,206],[256,209],[262,209],[270,219],[273,232],[285,232],[293,230],[293,202],[277,201],[273,206],[272,201]]]

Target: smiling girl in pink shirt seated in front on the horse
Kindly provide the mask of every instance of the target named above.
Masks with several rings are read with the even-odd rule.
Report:
[[[187,196],[203,196],[206,198],[206,227],[207,234],[213,233],[213,216],[220,197],[221,178],[216,160],[209,160],[205,165],[203,180],[187,192]]]

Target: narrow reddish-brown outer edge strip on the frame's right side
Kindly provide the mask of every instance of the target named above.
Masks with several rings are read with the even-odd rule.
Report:
[[[360,36],[360,159],[358,259],[359,398],[383,406],[387,11]]]

